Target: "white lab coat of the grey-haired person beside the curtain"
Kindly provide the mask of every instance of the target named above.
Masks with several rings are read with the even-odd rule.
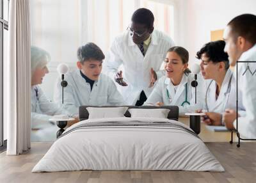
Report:
[[[36,90],[38,91],[36,96]],[[54,127],[54,123],[49,122],[53,115],[70,115],[67,111],[58,107],[54,102],[50,102],[44,95],[40,86],[35,85],[31,88],[31,128],[42,129]],[[56,131],[54,132],[56,136]]]

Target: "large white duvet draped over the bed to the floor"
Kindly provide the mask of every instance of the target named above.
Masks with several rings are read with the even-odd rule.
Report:
[[[204,142],[169,127],[111,126],[76,129],[93,122],[170,122],[163,118],[84,120],[57,139],[32,172],[72,170],[188,170],[225,171]],[[76,130],[72,130],[76,129]]]

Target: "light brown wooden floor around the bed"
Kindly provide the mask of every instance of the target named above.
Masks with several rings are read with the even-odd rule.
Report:
[[[225,172],[195,171],[65,171],[31,173],[33,166],[52,143],[32,143],[28,152],[18,156],[0,154],[0,182],[256,182],[256,142],[205,143],[220,161]]]

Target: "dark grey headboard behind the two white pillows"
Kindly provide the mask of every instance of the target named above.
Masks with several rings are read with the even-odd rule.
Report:
[[[137,108],[137,109],[170,109],[167,118],[170,120],[179,120],[179,107],[178,106],[80,106],[79,107],[79,120],[87,120],[89,117],[89,113],[86,107],[129,107],[129,109]],[[124,114],[125,117],[131,117],[131,114],[127,110]]]

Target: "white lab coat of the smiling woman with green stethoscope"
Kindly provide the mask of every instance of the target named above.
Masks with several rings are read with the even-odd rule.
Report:
[[[194,80],[195,75],[189,74],[186,76],[183,74],[182,80],[175,93],[172,81],[170,78],[163,76],[159,79],[154,88],[153,92],[149,95],[145,105],[156,104],[156,102],[163,102],[164,106],[179,106],[179,114],[184,115],[185,113],[195,113],[196,110],[202,109],[204,104],[204,81],[202,76],[198,74],[196,86],[196,104],[195,104],[195,88],[191,86],[191,82]],[[188,83],[188,102],[189,104],[182,103],[186,99],[186,83]],[[169,96],[169,97],[168,97]]]

